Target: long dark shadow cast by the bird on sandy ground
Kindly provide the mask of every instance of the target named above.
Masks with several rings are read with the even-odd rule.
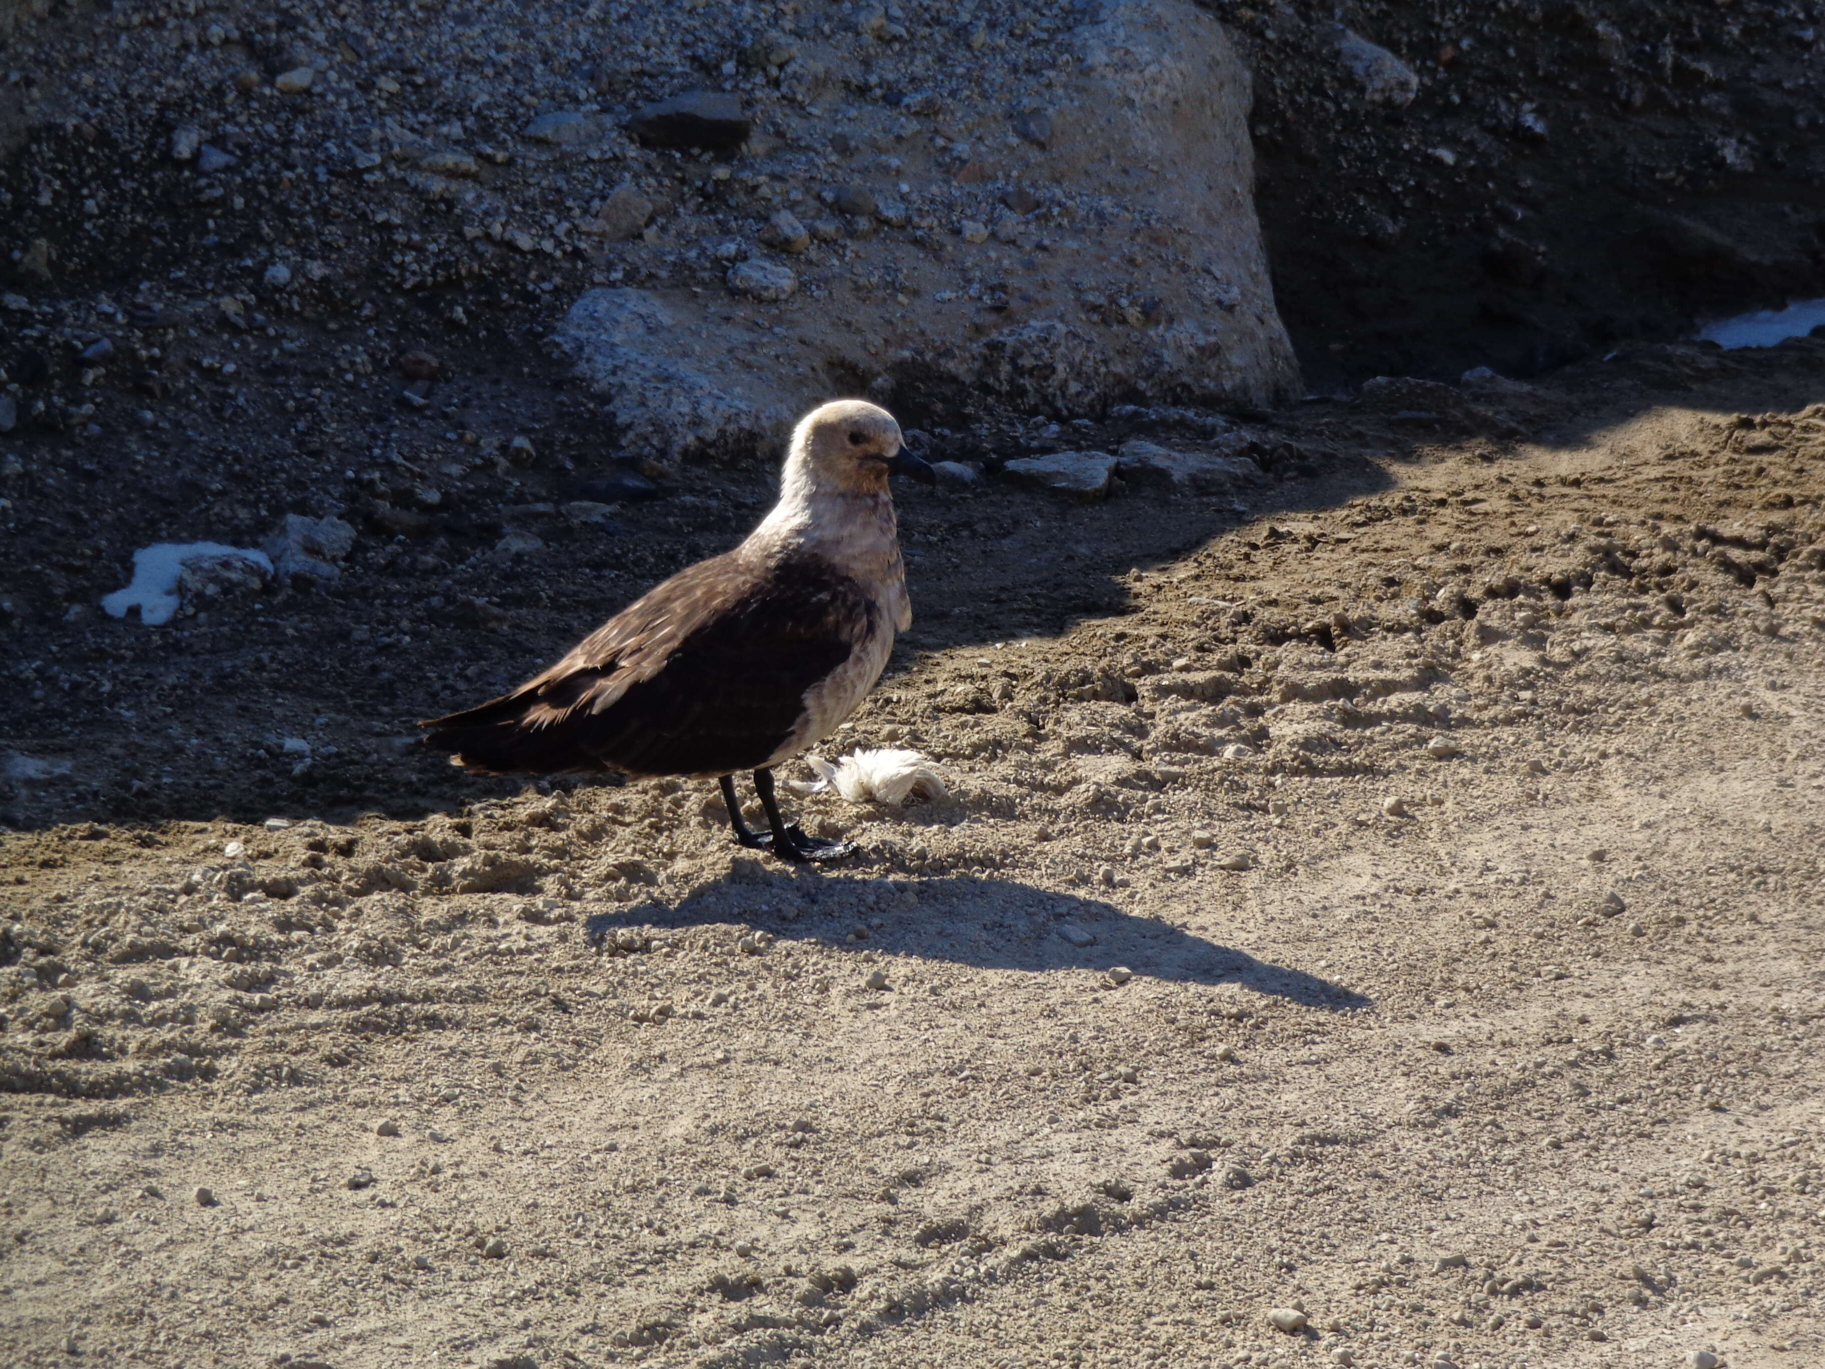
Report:
[[[746,862],[743,862],[746,865]],[[743,922],[774,936],[852,951],[1026,973],[1121,966],[1137,978],[1239,984],[1307,1008],[1345,1011],[1371,998],[1290,966],[1204,940],[1170,922],[1124,913],[1099,898],[1037,889],[1015,880],[942,876],[889,882],[799,869],[743,869],[699,885],[677,902],[648,900],[597,913],[591,942],[619,927],[683,931]],[[912,891],[911,896],[907,891]]]

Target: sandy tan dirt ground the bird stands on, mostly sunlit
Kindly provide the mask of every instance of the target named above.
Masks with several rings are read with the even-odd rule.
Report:
[[[429,798],[235,759],[95,821],[131,734],[33,714],[5,1358],[1825,1362],[1821,389],[1659,347],[1309,403],[1246,509],[907,493],[841,748],[949,796],[794,794],[818,871],[380,741]],[[354,736],[489,683],[400,659],[246,688]]]

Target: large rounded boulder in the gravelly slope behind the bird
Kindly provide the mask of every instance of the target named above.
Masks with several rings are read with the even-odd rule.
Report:
[[[1296,398],[1228,35],[1184,0],[1079,13],[1062,71],[993,86],[942,27],[891,53],[863,33],[796,49],[754,111],[768,137],[725,183],[794,208],[737,193],[655,221],[633,243],[644,288],[589,290],[558,329],[628,447],[766,449],[861,389],[938,425],[982,405],[1075,418]],[[840,82],[788,78],[863,55],[922,64],[929,86],[845,104]],[[626,193],[657,203],[662,186]]]

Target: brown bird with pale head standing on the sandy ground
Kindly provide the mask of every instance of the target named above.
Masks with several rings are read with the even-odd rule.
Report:
[[[850,854],[785,821],[772,772],[836,732],[912,624],[892,475],[936,484],[892,414],[865,400],[812,409],[792,429],[779,502],[737,548],[650,590],[511,694],[422,721],[423,745],[478,774],[715,779],[743,847]],[[766,832],[743,821],[739,770]]]

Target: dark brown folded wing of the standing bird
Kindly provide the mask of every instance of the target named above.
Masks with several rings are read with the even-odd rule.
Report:
[[[699,562],[513,694],[423,723],[485,772],[725,774],[765,765],[805,692],[881,628],[861,586],[808,557]]]

